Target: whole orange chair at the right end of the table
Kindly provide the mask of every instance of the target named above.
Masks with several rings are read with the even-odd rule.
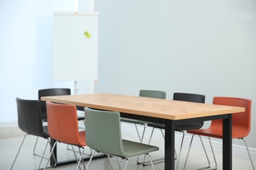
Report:
[[[240,112],[240,113],[236,113],[236,114],[232,115],[232,139],[243,139],[244,140],[245,147],[246,147],[248,155],[249,155],[249,159],[251,160],[251,155],[249,153],[247,144],[244,139],[244,137],[247,137],[247,135],[249,135],[249,131],[251,129],[251,100],[235,98],[235,97],[214,97],[213,104],[245,108],[245,112]],[[208,137],[209,143],[211,146],[211,150],[213,152],[213,147],[211,145],[211,141],[210,141],[209,137],[223,139],[223,120],[213,120],[213,121],[211,121],[211,126],[209,128],[188,130],[187,133],[193,134],[191,142],[190,142],[190,146],[192,144],[194,135]],[[201,139],[201,137],[200,137],[200,139]],[[202,141],[202,139],[201,139],[201,141]],[[190,147],[188,150],[188,154],[189,154],[189,152],[190,152]],[[206,154],[206,152],[205,152],[205,154]],[[206,154],[206,156],[207,156],[207,154]],[[216,162],[214,153],[213,153],[213,157],[215,160],[215,169],[217,169],[217,162]],[[186,157],[186,161],[187,160],[188,160],[188,155]],[[184,169],[186,166],[186,161],[185,161]],[[255,169],[252,160],[251,160],[251,165],[253,166],[253,169]]]

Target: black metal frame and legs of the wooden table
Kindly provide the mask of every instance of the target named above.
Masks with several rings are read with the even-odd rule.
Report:
[[[79,107],[83,108],[83,107]],[[92,108],[97,109],[97,108]],[[79,109],[81,110],[81,109]],[[156,122],[160,124],[165,124],[165,170],[175,170],[175,125],[186,124],[190,122],[203,122],[209,120],[223,119],[223,169],[232,170],[232,114],[221,114],[217,116],[202,116],[200,118],[189,118],[183,120],[168,120],[163,118],[154,118],[150,116],[140,116],[136,114],[126,114],[121,113],[121,117],[133,118],[136,120],[144,120],[148,122]],[[55,142],[51,139],[51,144]],[[56,150],[54,149],[54,155],[56,156]],[[170,154],[171,153],[171,154]],[[102,158],[105,156],[95,156],[96,158]],[[56,156],[57,160],[57,156]],[[84,160],[89,160],[89,158],[84,158]],[[58,162],[58,165],[66,165],[68,163],[75,163],[76,160],[68,160]],[[54,165],[54,160],[51,158],[51,166]]]

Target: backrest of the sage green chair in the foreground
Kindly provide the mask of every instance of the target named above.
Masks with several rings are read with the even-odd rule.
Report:
[[[99,152],[123,155],[119,112],[85,108],[86,143]]]

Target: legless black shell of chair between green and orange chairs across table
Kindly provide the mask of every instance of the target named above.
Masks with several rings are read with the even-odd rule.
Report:
[[[194,94],[194,93],[173,93],[173,100],[205,103],[205,95]],[[178,130],[187,130],[187,129],[200,129],[202,126],[203,126],[203,122],[192,122],[189,124],[179,125],[177,127],[178,127]]]

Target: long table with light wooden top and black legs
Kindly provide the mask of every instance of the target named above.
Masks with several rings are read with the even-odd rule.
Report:
[[[232,114],[243,107],[172,101],[112,93],[41,97],[43,101],[122,112],[121,116],[165,124],[165,170],[175,169],[175,125],[223,119],[223,169],[232,169]],[[54,163],[53,163],[54,164]]]

